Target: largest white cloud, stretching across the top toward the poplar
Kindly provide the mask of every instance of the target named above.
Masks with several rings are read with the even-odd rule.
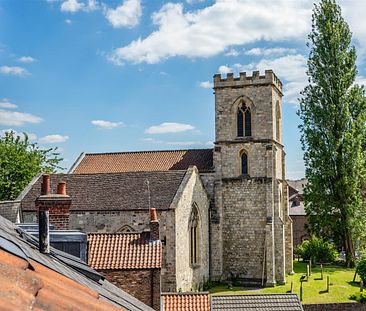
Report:
[[[152,15],[156,31],[115,49],[109,59],[119,65],[157,63],[174,56],[209,57],[259,40],[303,40],[311,8],[310,1],[217,0],[184,12],[182,3],[167,3]]]

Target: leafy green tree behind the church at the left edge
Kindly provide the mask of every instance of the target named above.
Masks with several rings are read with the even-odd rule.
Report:
[[[14,132],[0,137],[0,200],[14,200],[38,173],[61,169],[56,150],[40,149],[25,133],[24,138]]]

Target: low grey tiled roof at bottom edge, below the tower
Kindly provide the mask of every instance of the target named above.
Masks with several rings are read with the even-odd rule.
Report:
[[[213,295],[211,311],[303,311],[295,294]]]

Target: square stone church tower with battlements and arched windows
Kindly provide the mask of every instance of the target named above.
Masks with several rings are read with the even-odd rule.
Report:
[[[215,207],[211,276],[284,283],[292,272],[282,145],[282,83],[272,72],[214,76]]]

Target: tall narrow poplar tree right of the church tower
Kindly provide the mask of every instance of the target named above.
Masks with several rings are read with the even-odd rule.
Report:
[[[355,85],[356,50],[334,0],[314,6],[309,34],[309,84],[302,91],[299,116],[308,186],[310,230],[333,237],[355,264],[355,243],[365,231],[361,195],[365,180],[366,100]]]

